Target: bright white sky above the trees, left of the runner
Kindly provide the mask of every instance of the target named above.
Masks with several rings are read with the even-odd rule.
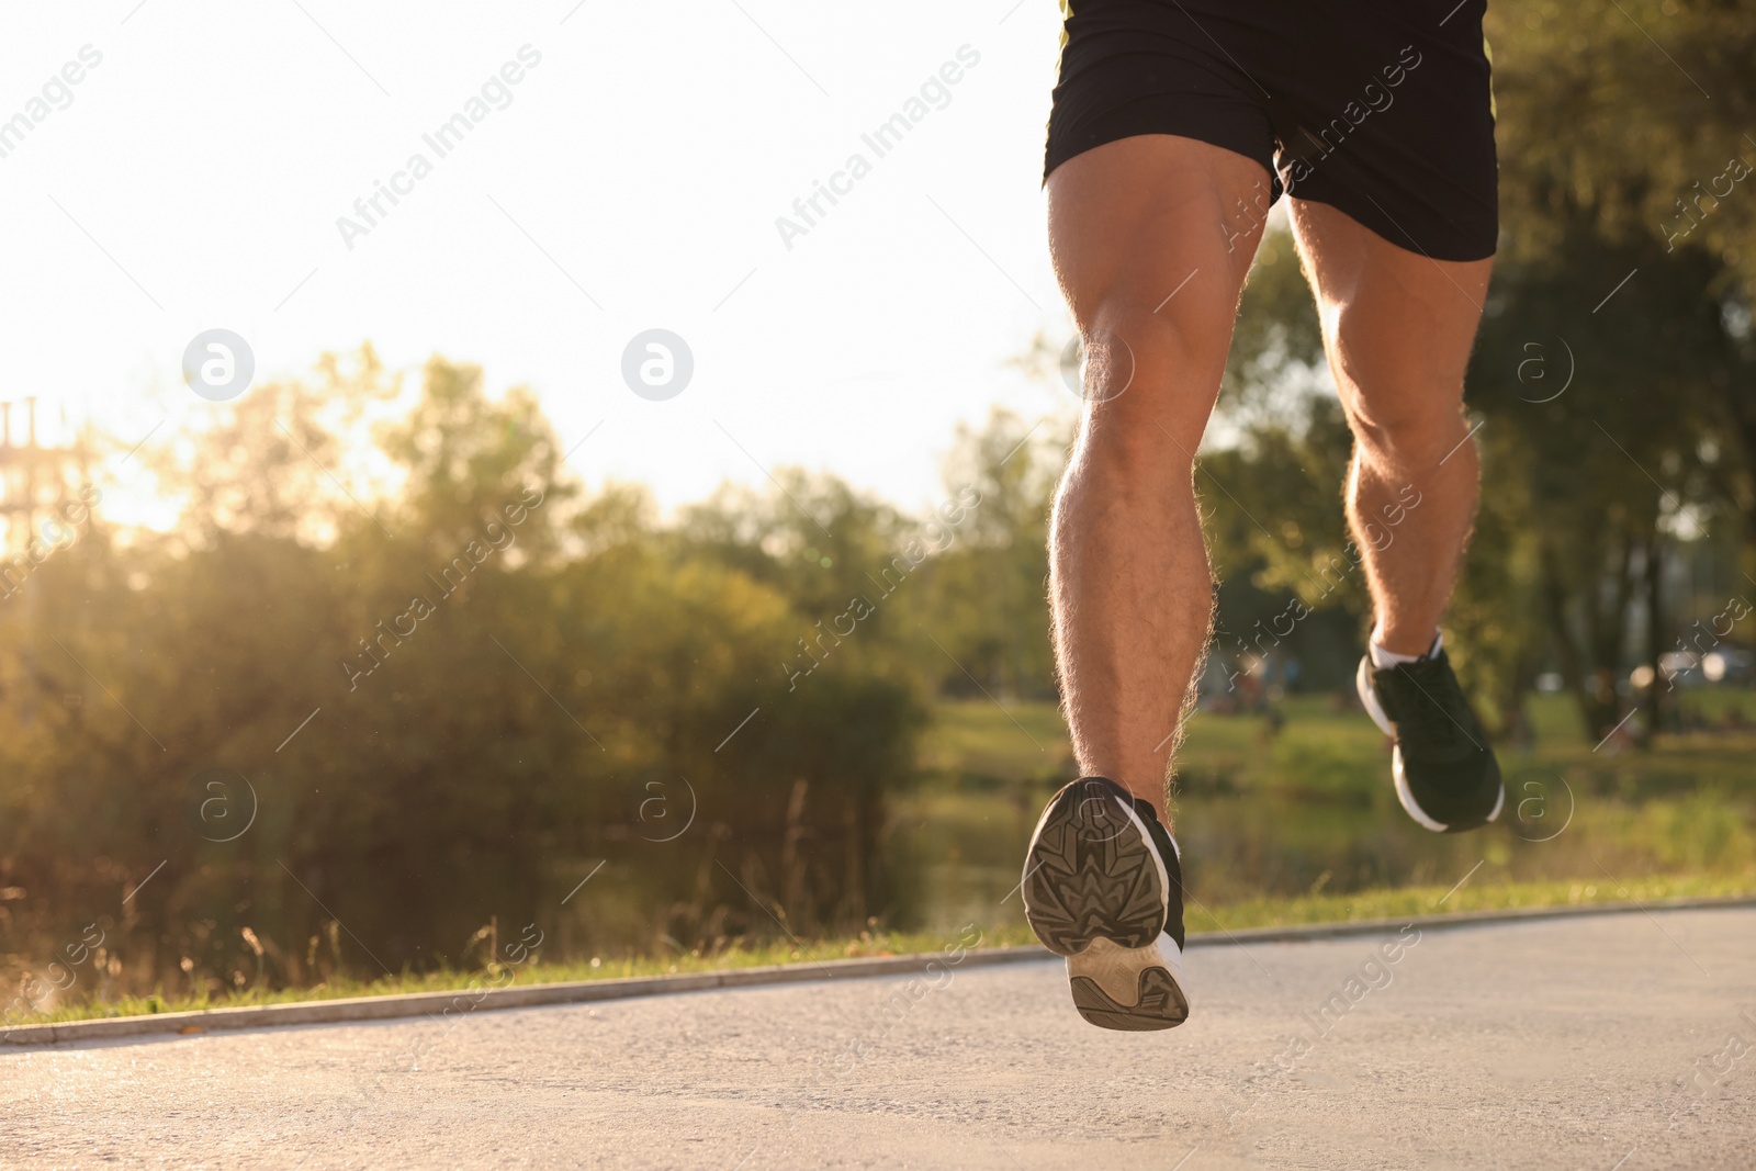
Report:
[[[30,123],[0,137],[0,393],[125,441],[214,409],[181,379],[209,328],[258,383],[365,339],[393,369],[481,363],[569,446],[602,421],[574,471],[667,506],[802,463],[917,507],[959,420],[1073,406],[1003,365],[1069,335],[1040,191],[1054,0],[105,0],[0,30],[0,119]],[[481,97],[460,144],[423,140]],[[897,112],[918,123],[878,156],[862,133]],[[397,177],[416,153],[430,174]],[[788,249],[776,218],[855,153],[869,174]],[[650,328],[694,355],[667,400],[622,376]]]

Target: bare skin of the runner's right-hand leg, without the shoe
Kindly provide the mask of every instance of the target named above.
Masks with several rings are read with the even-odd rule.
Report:
[[[1373,641],[1424,655],[1475,516],[1463,370],[1493,260],[1428,260],[1328,204],[1292,200],[1291,211],[1354,428],[1347,516],[1377,614]]]

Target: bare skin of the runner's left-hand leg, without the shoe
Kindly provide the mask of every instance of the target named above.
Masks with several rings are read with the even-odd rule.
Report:
[[[1266,181],[1261,163],[1171,135],[1094,147],[1048,177],[1055,272],[1087,348],[1050,535],[1062,697],[1082,774],[1161,820],[1212,620],[1194,451],[1261,241],[1236,209]]]

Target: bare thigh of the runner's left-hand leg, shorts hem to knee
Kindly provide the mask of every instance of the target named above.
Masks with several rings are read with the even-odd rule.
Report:
[[[1155,133],[1076,154],[1047,186],[1055,276],[1090,362],[1120,379],[1087,402],[1120,404],[1127,388],[1129,407],[1162,407],[1155,421],[1192,451],[1263,237],[1268,170],[1208,142]],[[1148,374],[1145,384],[1136,370]],[[1087,374],[1089,390],[1094,377],[1103,370]],[[1205,399],[1191,384],[1205,386]]]

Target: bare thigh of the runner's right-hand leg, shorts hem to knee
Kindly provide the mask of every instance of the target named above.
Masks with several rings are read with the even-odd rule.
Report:
[[[1328,204],[1294,198],[1291,212],[1356,428],[1454,418],[1493,258],[1433,260]]]

